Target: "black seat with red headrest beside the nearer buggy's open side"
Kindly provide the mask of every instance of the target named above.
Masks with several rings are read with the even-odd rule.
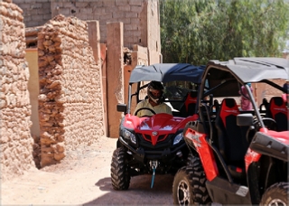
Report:
[[[235,178],[245,177],[245,155],[247,153],[247,126],[237,125],[239,114],[234,98],[224,98],[217,113],[215,125],[218,133],[219,152],[228,170]]]

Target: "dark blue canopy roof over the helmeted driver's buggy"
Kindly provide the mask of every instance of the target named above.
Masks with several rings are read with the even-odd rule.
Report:
[[[136,66],[132,70],[129,83],[139,81],[173,80],[191,81],[200,83],[205,66],[193,66],[189,63],[157,63],[150,66]]]

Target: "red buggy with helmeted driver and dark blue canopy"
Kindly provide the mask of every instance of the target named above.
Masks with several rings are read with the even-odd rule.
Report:
[[[132,176],[147,173],[152,174],[153,187],[155,174],[174,174],[186,164],[189,150],[182,131],[189,121],[196,119],[193,114],[203,70],[204,67],[186,63],[137,66],[132,70],[127,104],[117,105],[117,111],[124,112],[124,117],[111,160],[111,183],[115,190],[127,190]],[[172,105],[172,115],[132,114],[133,105],[145,98],[151,80],[165,84],[163,101]],[[190,87],[183,87],[185,84],[179,87],[174,81],[184,81]]]

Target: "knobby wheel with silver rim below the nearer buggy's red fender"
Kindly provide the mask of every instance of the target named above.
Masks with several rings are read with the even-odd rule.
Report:
[[[206,188],[206,176],[200,159],[190,155],[187,166],[182,167],[174,176],[172,183],[173,204],[209,204],[210,196]]]

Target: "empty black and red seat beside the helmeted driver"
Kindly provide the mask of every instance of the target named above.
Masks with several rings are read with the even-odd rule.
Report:
[[[185,101],[180,110],[182,117],[188,117],[195,114],[196,104],[197,104],[197,91],[188,92],[187,96],[184,98]]]

